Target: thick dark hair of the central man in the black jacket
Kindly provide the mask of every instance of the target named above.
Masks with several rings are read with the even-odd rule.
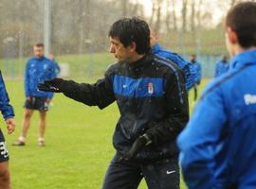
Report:
[[[108,36],[119,38],[124,47],[136,43],[137,54],[144,54],[150,49],[150,28],[145,21],[136,17],[115,22],[110,27]]]

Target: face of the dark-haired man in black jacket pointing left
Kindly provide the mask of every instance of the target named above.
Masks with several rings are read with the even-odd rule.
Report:
[[[117,60],[130,60],[132,56],[130,46],[124,47],[119,38],[110,37],[110,53],[113,53]]]

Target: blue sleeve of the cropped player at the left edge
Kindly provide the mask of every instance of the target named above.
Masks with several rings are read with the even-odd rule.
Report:
[[[13,108],[9,105],[9,95],[2,74],[0,72],[0,110],[4,119],[14,117]]]

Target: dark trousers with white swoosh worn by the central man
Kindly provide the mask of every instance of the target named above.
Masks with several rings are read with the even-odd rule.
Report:
[[[119,163],[119,157],[115,156],[108,167],[102,189],[137,189],[143,178],[149,189],[179,189],[177,158],[154,163]]]

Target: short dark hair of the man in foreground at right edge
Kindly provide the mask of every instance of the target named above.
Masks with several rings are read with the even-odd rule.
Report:
[[[256,3],[239,3],[230,9],[226,26],[237,33],[238,43],[242,47],[256,46]]]

